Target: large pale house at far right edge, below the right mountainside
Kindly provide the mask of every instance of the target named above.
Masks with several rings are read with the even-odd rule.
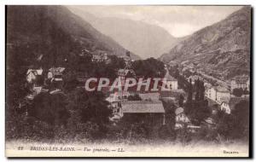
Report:
[[[230,82],[230,90],[234,89],[242,89],[242,90],[250,90],[250,78],[248,76],[236,76],[231,79]]]

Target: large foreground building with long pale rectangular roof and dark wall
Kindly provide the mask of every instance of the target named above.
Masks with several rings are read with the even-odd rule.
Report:
[[[144,122],[151,126],[166,124],[165,109],[161,101],[123,101],[119,115],[131,122]]]

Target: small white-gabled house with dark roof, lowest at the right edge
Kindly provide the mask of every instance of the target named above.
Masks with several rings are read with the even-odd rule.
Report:
[[[229,100],[222,101],[220,104],[220,109],[223,110],[225,113],[230,114],[232,110],[235,109],[235,106],[240,101],[247,101],[249,98],[244,97],[230,97]]]

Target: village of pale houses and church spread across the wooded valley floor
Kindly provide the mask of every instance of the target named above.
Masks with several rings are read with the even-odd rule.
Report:
[[[80,56],[87,55],[90,51],[84,49]],[[121,80],[121,86],[124,86],[126,78],[136,78],[137,74],[131,69],[132,60],[130,55],[123,58],[125,60],[125,68],[117,71],[117,76]],[[107,54],[92,55],[92,62],[110,62]],[[247,76],[236,76],[232,79],[230,85],[227,87],[221,85],[212,85],[207,82],[195,69],[189,69],[193,75],[185,77],[187,83],[194,86],[197,82],[203,83],[204,96],[203,100],[207,100],[211,115],[203,119],[200,124],[193,124],[193,119],[185,113],[184,104],[188,100],[188,93],[183,90],[178,83],[178,79],[174,78],[170,73],[173,68],[170,65],[165,65],[165,91],[148,92],[148,91],[129,91],[129,90],[115,90],[108,91],[106,101],[109,102],[109,108],[112,110],[112,116],[109,120],[113,125],[118,124],[121,119],[132,122],[147,123],[157,132],[161,127],[172,127],[180,130],[186,127],[190,132],[196,132],[202,127],[214,129],[216,121],[214,115],[218,111],[230,114],[234,110],[236,104],[240,101],[248,101],[249,93],[242,93],[250,90],[250,82]],[[184,69],[178,72],[179,75],[186,76]],[[33,98],[40,93],[49,93],[55,95],[63,93],[63,76],[65,75],[65,67],[51,67],[48,72],[44,72],[42,68],[28,69],[26,72],[26,81],[31,93],[26,96],[26,102],[32,101]],[[145,78],[144,81],[147,79]],[[83,87],[84,80],[80,79],[80,87]],[[236,94],[236,91],[241,90],[241,94]],[[235,93],[234,93],[235,92]],[[234,95],[235,94],[235,95]],[[195,96],[191,96],[194,98]],[[20,102],[22,107],[22,102]],[[175,118],[173,119],[173,115]],[[136,118],[135,118],[136,117]],[[174,121],[173,121],[174,120]]]

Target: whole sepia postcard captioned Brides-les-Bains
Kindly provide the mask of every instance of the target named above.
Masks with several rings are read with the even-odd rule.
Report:
[[[249,157],[251,6],[6,6],[7,157]]]

